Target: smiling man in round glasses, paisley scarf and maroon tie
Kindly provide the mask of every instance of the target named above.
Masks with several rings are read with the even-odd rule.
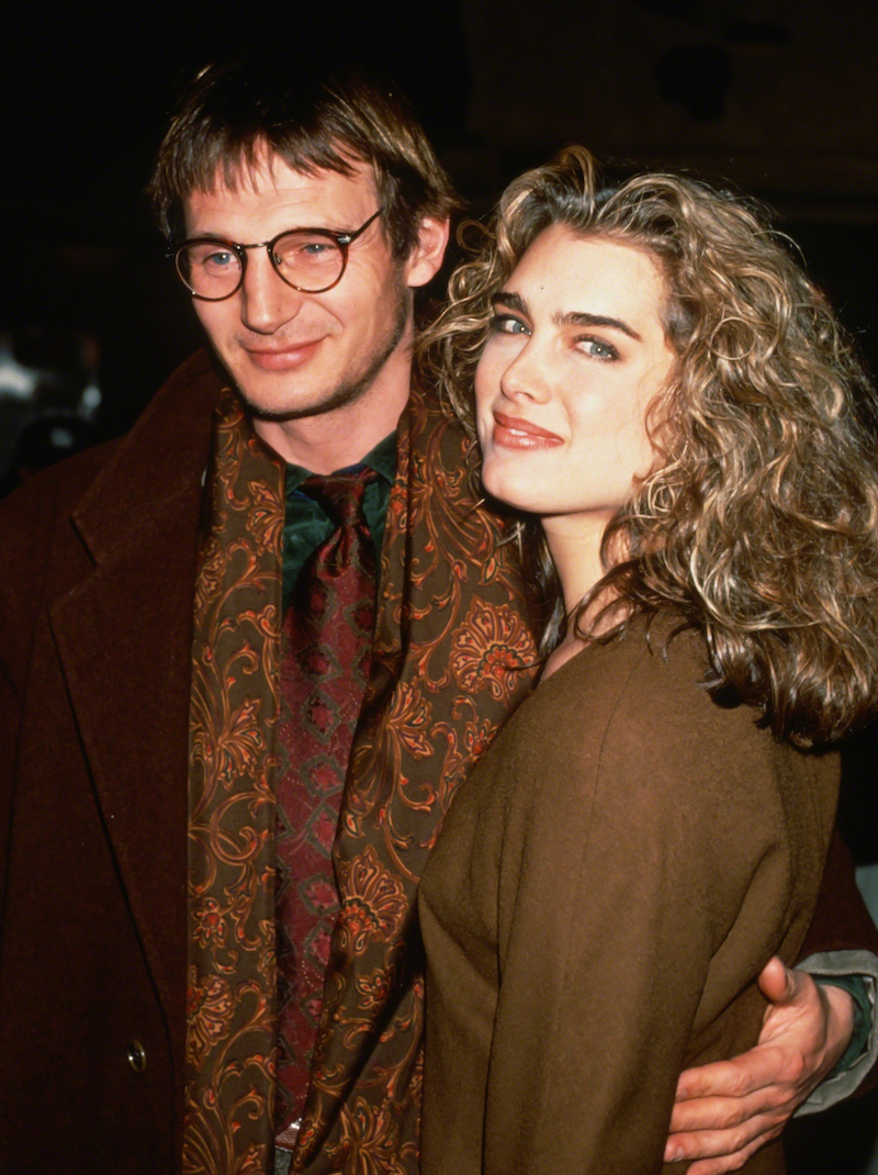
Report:
[[[394,95],[265,62],[196,79],[153,195],[212,356],[4,519],[4,1169],[414,1175],[417,882],[534,662],[413,375],[455,197]],[[869,946],[838,884],[813,945]],[[844,1050],[796,982],[675,1144],[755,1147]]]

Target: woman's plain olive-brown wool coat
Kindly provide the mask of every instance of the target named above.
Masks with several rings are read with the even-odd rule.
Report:
[[[666,659],[642,625],[585,650],[458,793],[419,900],[424,1175],[656,1173],[680,1070],[756,1042],[756,976],[799,956],[817,900],[838,756],[715,705],[705,667],[700,637]],[[744,1169],[782,1171],[781,1144]]]

